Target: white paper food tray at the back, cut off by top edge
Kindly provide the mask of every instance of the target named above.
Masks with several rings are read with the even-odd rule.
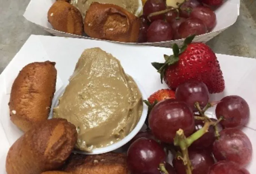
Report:
[[[49,8],[52,6],[52,4],[55,1],[56,0],[30,0],[30,3],[28,4],[27,9],[25,10],[25,13],[23,16],[28,21],[33,22],[36,25],[39,25],[39,27],[45,29],[46,31],[56,36],[94,39],[94,38],[80,36],[80,35],[68,34],[65,32],[52,29],[52,26],[47,19],[47,13]],[[217,25],[213,29],[213,31],[207,34],[196,36],[193,41],[199,41],[199,42],[205,43],[210,39],[212,39],[213,37],[215,37],[216,35],[220,34],[222,31],[224,31],[231,25],[233,25],[235,21],[237,21],[237,17],[239,16],[239,8],[240,8],[240,0],[226,0],[225,3],[215,11],[216,17],[217,17]],[[94,39],[94,40],[97,40],[97,39]],[[141,44],[170,48],[171,45],[174,43],[177,43],[180,46],[183,43],[183,39],[176,40],[176,41],[164,41],[164,42],[141,43]],[[134,43],[129,43],[129,44],[134,44]],[[135,43],[135,44],[138,45],[138,43]]]

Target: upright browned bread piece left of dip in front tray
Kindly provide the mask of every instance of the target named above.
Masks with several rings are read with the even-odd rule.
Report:
[[[55,93],[55,62],[34,62],[19,72],[12,84],[10,119],[22,131],[28,131],[48,119]]]

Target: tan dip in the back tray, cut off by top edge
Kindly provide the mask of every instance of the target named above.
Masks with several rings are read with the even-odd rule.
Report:
[[[115,4],[123,7],[128,12],[133,13],[134,15],[139,7],[138,0],[71,0],[70,4],[77,7],[80,10],[82,16],[84,17],[86,11],[89,9],[91,3],[93,2]]]

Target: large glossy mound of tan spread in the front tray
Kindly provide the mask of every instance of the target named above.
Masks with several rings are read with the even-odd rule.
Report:
[[[119,60],[100,48],[86,49],[76,64],[55,118],[77,127],[76,147],[90,152],[127,136],[142,114],[142,97]]]

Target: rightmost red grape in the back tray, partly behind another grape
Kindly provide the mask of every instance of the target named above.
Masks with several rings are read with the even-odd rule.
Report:
[[[208,7],[195,7],[189,17],[201,19],[206,25],[208,31],[211,31],[217,23],[216,14]]]

